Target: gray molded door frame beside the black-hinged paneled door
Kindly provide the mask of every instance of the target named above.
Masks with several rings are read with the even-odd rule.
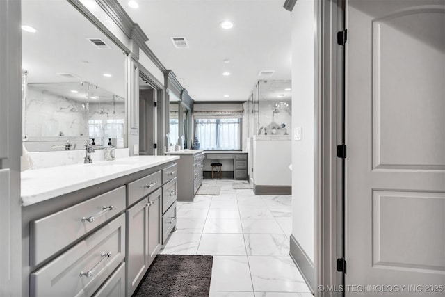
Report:
[[[343,26],[343,3],[328,0],[315,6],[319,28],[315,52],[315,296],[344,296],[343,274],[337,271],[337,259],[343,257],[342,172],[341,159],[337,158],[337,145],[342,141],[343,94],[343,58],[337,31]]]

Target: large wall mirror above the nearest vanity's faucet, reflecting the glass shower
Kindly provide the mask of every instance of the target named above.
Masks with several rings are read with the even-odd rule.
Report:
[[[26,148],[82,150],[90,138],[127,147],[122,49],[65,0],[22,0],[22,25]]]

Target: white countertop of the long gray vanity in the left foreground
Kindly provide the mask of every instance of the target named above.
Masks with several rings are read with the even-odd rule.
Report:
[[[22,206],[56,198],[177,159],[179,156],[131,156],[91,164],[26,170],[22,172]]]

